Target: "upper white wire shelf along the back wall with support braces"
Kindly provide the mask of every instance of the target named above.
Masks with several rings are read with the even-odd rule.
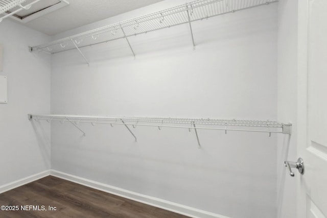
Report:
[[[132,47],[127,39],[128,37],[169,28],[184,23],[190,24],[193,46],[195,46],[191,26],[192,22],[274,2],[278,2],[278,0],[197,0],[152,14],[61,38],[49,43],[32,46],[30,47],[30,51],[54,54],[126,38],[128,45],[135,56],[134,51],[132,50]],[[88,63],[85,56],[83,56],[83,58]]]

